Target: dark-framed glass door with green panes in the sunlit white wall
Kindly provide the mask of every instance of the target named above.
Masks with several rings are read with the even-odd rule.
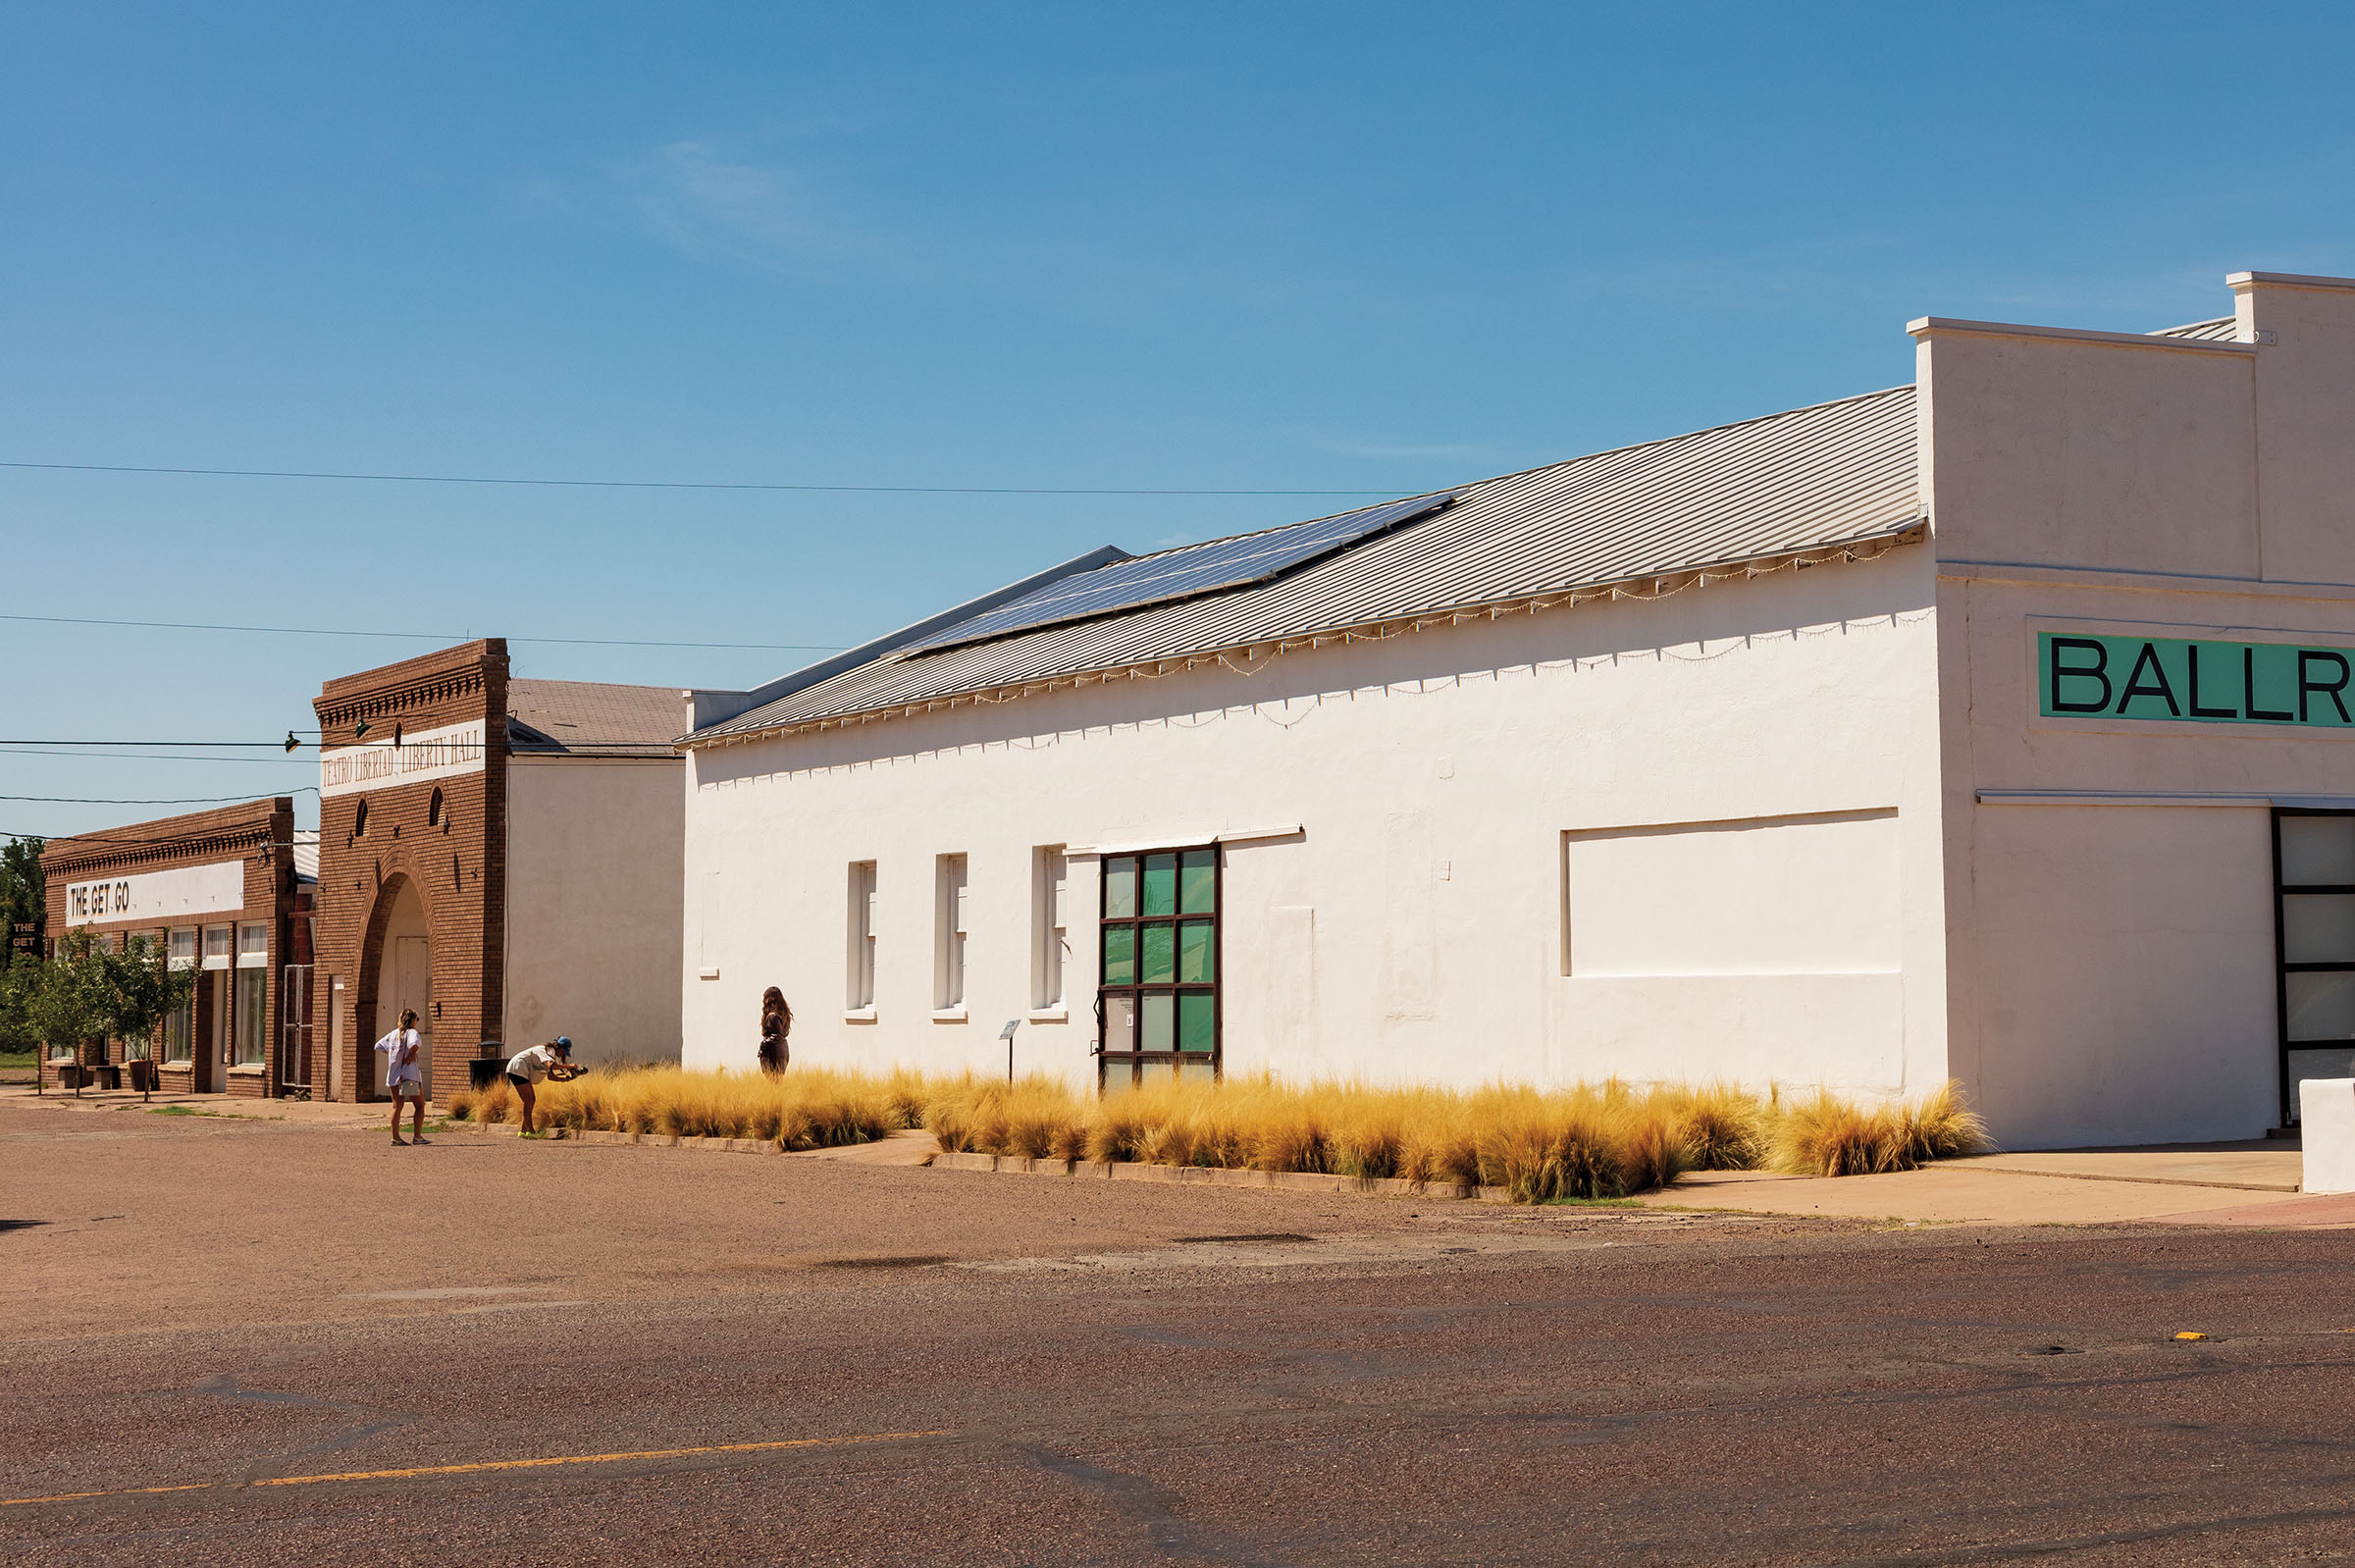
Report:
[[[1102,979],[1095,994],[1104,1092],[1147,1078],[1218,1076],[1218,845],[1102,859]]]

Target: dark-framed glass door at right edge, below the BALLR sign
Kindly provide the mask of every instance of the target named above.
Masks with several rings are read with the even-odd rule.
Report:
[[[2273,812],[2282,1125],[2303,1078],[2355,1078],[2355,812]]]

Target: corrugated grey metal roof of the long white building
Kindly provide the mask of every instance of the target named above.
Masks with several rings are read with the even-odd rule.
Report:
[[[1455,494],[1425,523],[1267,584],[940,652],[883,652],[683,744],[1891,539],[1922,520],[1915,388],[1575,457]],[[1203,546],[1168,553],[1187,549]]]

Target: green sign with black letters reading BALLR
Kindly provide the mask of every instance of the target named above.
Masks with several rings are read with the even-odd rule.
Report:
[[[2044,718],[2355,727],[2355,650],[2037,633]]]

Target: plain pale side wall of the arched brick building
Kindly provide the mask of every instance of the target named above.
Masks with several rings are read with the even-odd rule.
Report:
[[[506,1043],[678,1055],[676,760],[509,760]]]

